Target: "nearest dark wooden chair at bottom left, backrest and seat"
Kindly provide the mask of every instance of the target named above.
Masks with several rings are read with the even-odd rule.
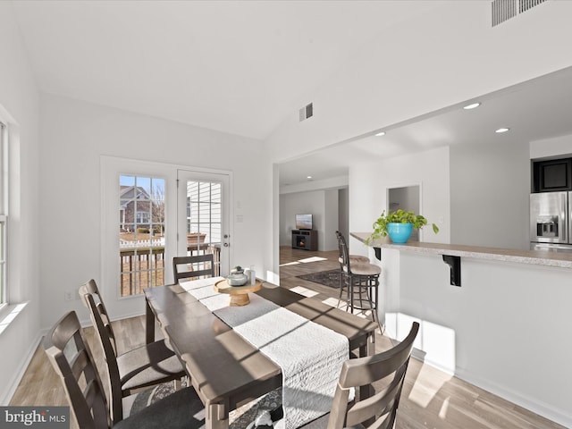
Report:
[[[205,425],[203,404],[192,387],[175,391],[131,416],[111,416],[103,383],[74,311],[64,315],[47,333],[43,347],[62,379],[80,429],[198,429]],[[114,378],[110,373],[107,381],[119,383]],[[126,402],[130,400],[126,398]]]

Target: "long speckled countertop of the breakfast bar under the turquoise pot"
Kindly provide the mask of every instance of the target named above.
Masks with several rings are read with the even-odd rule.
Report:
[[[369,232],[350,232],[352,237],[365,243]],[[528,265],[546,265],[559,268],[572,268],[572,253],[551,252],[541,250],[518,250],[514,248],[484,248],[458,244],[427,243],[409,241],[405,244],[394,244],[376,240],[370,243],[373,248],[393,248],[425,255],[448,255],[451,257],[472,257],[490,261],[515,262]]]

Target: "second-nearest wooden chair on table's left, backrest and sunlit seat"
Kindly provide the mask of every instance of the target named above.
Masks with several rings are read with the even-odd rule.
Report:
[[[164,340],[151,342],[136,349],[119,353],[114,329],[105,304],[92,279],[80,287],[80,297],[88,307],[91,322],[97,332],[97,340],[104,352],[109,370],[117,375],[120,398],[136,389],[159,383],[181,380],[187,375],[179,357],[169,349]]]

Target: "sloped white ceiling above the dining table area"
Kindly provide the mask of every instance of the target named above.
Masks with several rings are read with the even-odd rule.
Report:
[[[265,139],[383,27],[439,2],[13,1],[47,93]]]

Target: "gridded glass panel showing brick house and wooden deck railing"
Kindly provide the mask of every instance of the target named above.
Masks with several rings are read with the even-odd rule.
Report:
[[[164,284],[164,179],[119,178],[121,297]]]

